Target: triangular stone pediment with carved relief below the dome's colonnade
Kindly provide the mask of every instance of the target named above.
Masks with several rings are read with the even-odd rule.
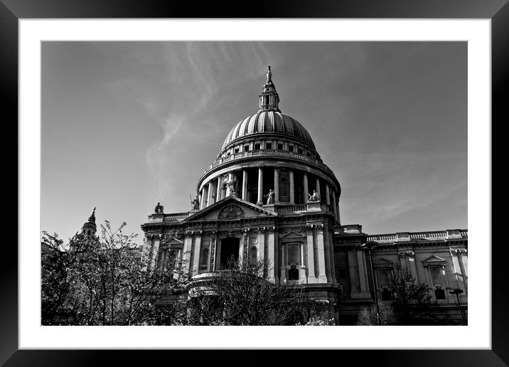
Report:
[[[277,213],[268,211],[262,208],[262,206],[257,206],[249,201],[236,198],[235,196],[228,196],[198,211],[183,220],[183,222],[193,222],[195,220],[240,220],[243,218],[266,216],[277,216]]]

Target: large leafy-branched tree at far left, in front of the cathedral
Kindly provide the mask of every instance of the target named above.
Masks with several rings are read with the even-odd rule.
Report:
[[[41,284],[44,325],[156,324],[159,299],[184,289],[181,270],[146,270],[149,258],[139,256],[134,235],[101,225],[100,237],[75,235],[67,246],[58,235],[43,233],[50,251],[43,255]]]

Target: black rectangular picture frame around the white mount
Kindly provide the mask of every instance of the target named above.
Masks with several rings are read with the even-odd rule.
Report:
[[[0,78],[4,90],[4,116],[5,112],[10,112],[4,124],[16,126],[18,120],[18,20],[22,18],[486,18],[492,21],[491,131],[493,138],[501,139],[503,135],[497,132],[509,120],[505,108],[507,102],[503,96],[509,75],[507,3],[508,0],[329,0],[251,2],[247,6],[247,3],[242,5],[240,2],[228,1],[198,4],[163,0],[0,0]],[[17,129],[14,134],[17,136]],[[502,156],[495,154],[492,143],[492,167],[498,166]],[[16,184],[15,190],[19,195],[19,182]],[[498,190],[493,188],[492,197],[496,193]],[[492,208],[502,205],[500,201],[495,201]],[[500,217],[492,215],[492,228],[503,228]],[[486,233],[485,245],[488,247],[488,239],[491,239],[492,254],[505,253],[502,249],[504,241],[499,237]],[[4,243],[2,255],[0,363],[5,363],[5,366],[93,366],[109,364],[112,357],[115,365],[146,365],[152,358],[162,358],[165,361],[177,358],[182,361],[179,363],[186,363],[190,355],[208,365],[225,363],[224,356],[217,356],[225,351],[18,350],[18,251],[14,245],[7,246]],[[292,351],[291,359],[299,364],[308,361],[323,363],[330,359],[331,363],[356,361],[361,364],[376,363],[378,366],[506,366],[509,363],[509,313],[506,306],[509,304],[509,292],[505,290],[507,275],[503,262],[505,256],[492,258],[490,350],[341,350],[320,351],[320,354],[318,351]],[[276,358],[272,353],[274,351],[249,350],[243,351],[242,356],[232,356],[230,351],[227,355],[234,363],[242,361],[244,365],[259,365],[267,363],[267,358]]]

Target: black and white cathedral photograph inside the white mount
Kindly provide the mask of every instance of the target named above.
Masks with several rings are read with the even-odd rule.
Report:
[[[467,52],[41,42],[41,325],[468,326]]]

